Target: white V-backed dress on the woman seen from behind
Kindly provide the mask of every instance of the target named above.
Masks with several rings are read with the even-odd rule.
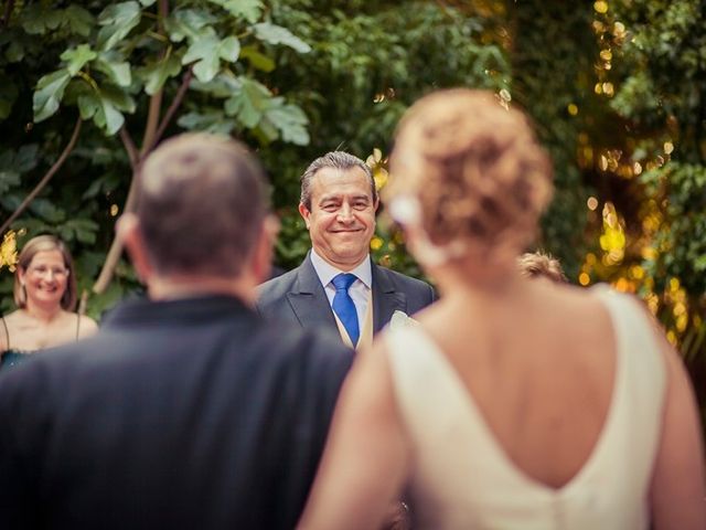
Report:
[[[409,486],[415,528],[649,528],[664,361],[651,322],[634,299],[605,287],[592,290],[608,308],[614,329],[614,386],[589,458],[558,489],[513,464],[453,367],[421,327],[385,332],[396,399],[414,444]]]

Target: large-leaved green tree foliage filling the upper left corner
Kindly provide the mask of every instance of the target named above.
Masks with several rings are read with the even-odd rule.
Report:
[[[20,245],[43,232],[64,239],[88,293],[127,198],[130,144],[149,150],[161,126],[167,134],[218,130],[263,146],[306,145],[306,114],[264,72],[280,47],[296,61],[309,45],[257,0],[66,3],[17,2],[0,32],[0,218],[56,162],[75,120],[85,121],[58,173],[11,227]],[[169,105],[178,112],[165,121]],[[0,284],[6,310],[10,287]],[[99,316],[135,288],[131,269],[119,264],[88,312]]]

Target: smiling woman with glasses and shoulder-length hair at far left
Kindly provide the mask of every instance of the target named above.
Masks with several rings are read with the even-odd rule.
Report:
[[[14,365],[36,350],[93,335],[96,322],[74,311],[76,278],[66,245],[53,235],[28,241],[14,273],[18,309],[0,320],[0,367]]]

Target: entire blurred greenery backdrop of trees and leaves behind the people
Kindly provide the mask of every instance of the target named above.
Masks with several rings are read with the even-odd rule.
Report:
[[[704,2],[4,0],[0,17],[2,311],[39,233],[72,247],[89,315],[139,288],[115,220],[141,158],[182,130],[257,151],[291,268],[308,162],[344,149],[384,186],[403,112],[462,85],[525,109],[553,156],[537,247],[576,284],[642,297],[706,402]],[[384,223],[372,252],[420,275]]]

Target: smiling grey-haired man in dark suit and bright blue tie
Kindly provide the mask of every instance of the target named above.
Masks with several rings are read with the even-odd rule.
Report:
[[[395,310],[413,315],[435,299],[428,284],[375,265],[370,243],[379,200],[371,169],[332,151],[301,177],[299,213],[311,237],[303,263],[259,288],[266,318],[328,328],[349,346],[370,344]]]

